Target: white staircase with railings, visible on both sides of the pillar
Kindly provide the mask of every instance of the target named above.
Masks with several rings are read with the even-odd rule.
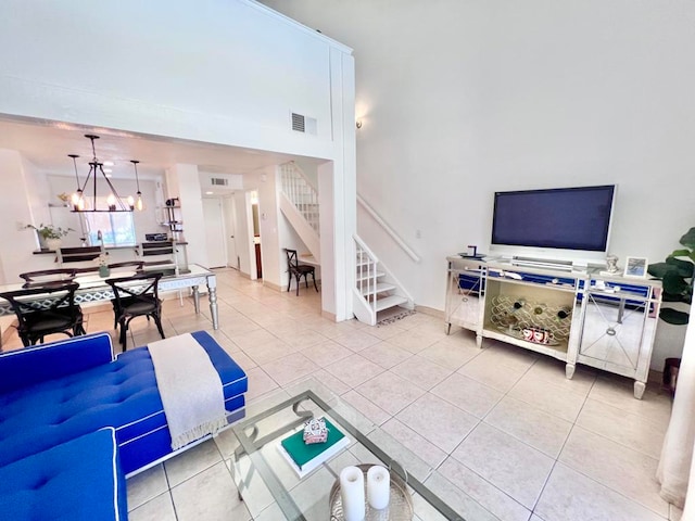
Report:
[[[293,162],[280,165],[280,211],[320,263],[318,193]],[[402,284],[358,237],[353,239],[356,252],[353,313],[357,319],[376,326],[380,312],[395,306],[413,309],[413,297],[402,289]]]

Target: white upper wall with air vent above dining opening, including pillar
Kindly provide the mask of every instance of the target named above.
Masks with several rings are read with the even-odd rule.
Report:
[[[0,48],[0,114],[333,161],[337,318],[352,317],[351,49],[251,0],[8,0]],[[291,112],[316,118],[316,136],[291,130]]]

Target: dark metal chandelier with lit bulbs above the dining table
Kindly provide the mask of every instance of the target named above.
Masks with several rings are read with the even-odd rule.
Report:
[[[99,139],[99,136],[94,136],[91,134],[86,134],[85,137],[91,140],[91,152],[92,160],[89,162],[89,174],[87,174],[87,179],[83,185],[79,183],[79,175],[77,174],[77,154],[68,154],[68,157],[73,158],[73,166],[75,167],[75,180],[77,181],[77,190],[73,193],[71,198],[71,202],[73,205],[72,212],[132,212],[134,209],[142,209],[142,193],[140,192],[140,179],[138,178],[138,163],[139,161],[131,160],[132,167],[135,168],[135,180],[138,187],[137,201],[132,199],[131,195],[124,201],[118,192],[114,188],[111,179],[106,176],[104,171],[103,162],[97,158],[97,151],[94,149],[94,140]],[[108,188],[110,190],[109,195],[106,195],[105,207],[99,206],[98,190],[97,183],[98,179],[101,178],[106,182]],[[91,181],[91,204],[87,201],[87,195],[85,194],[85,190],[87,186]]]

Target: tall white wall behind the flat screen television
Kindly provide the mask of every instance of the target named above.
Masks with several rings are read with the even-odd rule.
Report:
[[[443,309],[446,255],[485,251],[496,190],[618,183],[621,259],[695,224],[692,1],[264,3],[354,48],[358,193],[421,255],[374,244],[417,304]]]

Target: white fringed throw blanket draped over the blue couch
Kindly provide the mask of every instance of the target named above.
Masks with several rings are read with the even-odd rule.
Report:
[[[207,352],[190,334],[148,345],[176,450],[227,424],[222,380]]]

